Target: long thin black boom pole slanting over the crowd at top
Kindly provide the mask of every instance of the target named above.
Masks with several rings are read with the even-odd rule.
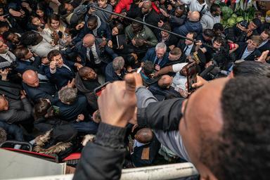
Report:
[[[176,34],[175,32],[171,32],[171,31],[168,31],[168,30],[163,30],[163,29],[160,28],[160,27],[156,27],[156,26],[154,26],[154,25],[150,25],[150,24],[145,23],[145,22],[143,22],[143,21],[136,20],[136,19],[134,19],[134,18],[129,18],[129,17],[124,16],[124,15],[122,15],[122,14],[119,14],[119,13],[115,13],[115,12],[111,12],[111,11],[105,10],[105,9],[103,9],[103,8],[100,8],[100,7],[98,7],[98,6],[95,6],[94,4],[88,4],[86,7],[95,8],[95,9],[97,9],[97,10],[104,11],[104,12],[106,12],[106,13],[111,13],[111,14],[113,14],[113,15],[117,15],[117,16],[120,16],[121,18],[125,18],[125,19],[131,20],[131,21],[135,21],[136,23],[141,23],[141,24],[146,25],[146,26],[148,26],[148,27],[153,27],[153,28],[155,28],[155,29],[158,29],[158,30],[167,32],[167,33],[169,33],[169,34],[173,34],[174,36],[180,37],[180,38],[182,38],[182,39],[188,39],[189,41],[193,41],[193,42],[195,42],[195,43],[198,42],[198,41],[196,41],[195,39],[190,39],[190,38],[184,37],[184,36],[182,36],[182,35],[180,35],[180,34]],[[207,46],[207,47],[209,47],[209,48],[211,48],[211,49],[215,49],[213,46],[210,46],[209,44],[205,44],[205,43],[203,43],[203,42],[202,42],[202,44],[203,44],[203,46]]]

